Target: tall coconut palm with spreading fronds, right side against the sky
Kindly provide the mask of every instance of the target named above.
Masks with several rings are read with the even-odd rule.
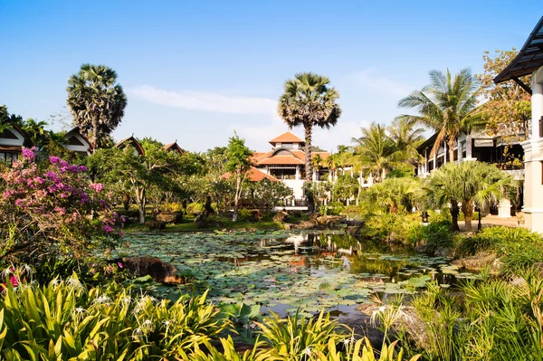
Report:
[[[454,146],[460,133],[469,133],[481,125],[481,111],[477,109],[476,92],[479,83],[472,71],[463,69],[452,79],[451,72],[430,71],[430,84],[423,90],[414,90],[400,100],[403,108],[414,108],[419,115],[400,115],[398,119],[418,123],[437,133],[431,156],[446,142],[449,158],[454,159]]]

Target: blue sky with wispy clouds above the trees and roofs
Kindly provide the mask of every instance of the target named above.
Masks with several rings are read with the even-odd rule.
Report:
[[[361,127],[409,113],[398,100],[422,89],[429,71],[478,73],[484,51],[519,49],[543,5],[511,4],[0,0],[0,104],[70,128],[68,78],[82,63],[106,64],[128,98],[117,140],[134,134],[205,151],[235,131],[267,151],[289,130],[277,114],[284,81],[313,71],[340,93],[337,126],[313,133],[314,145],[335,151]]]

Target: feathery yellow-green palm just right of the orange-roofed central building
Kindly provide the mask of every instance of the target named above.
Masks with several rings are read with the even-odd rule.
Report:
[[[355,170],[373,174],[377,182],[380,182],[387,171],[400,164],[395,157],[395,143],[386,134],[384,125],[372,123],[369,128],[361,130],[362,137],[352,138],[356,146],[350,163]]]

